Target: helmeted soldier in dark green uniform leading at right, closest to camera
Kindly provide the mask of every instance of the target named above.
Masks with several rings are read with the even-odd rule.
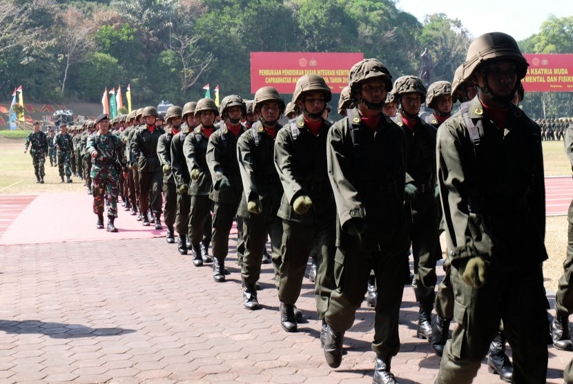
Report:
[[[547,259],[540,128],[512,104],[527,61],[502,32],[470,44],[463,80],[478,97],[438,132],[438,182],[458,323],[436,383],[471,383],[500,320],[513,383],[545,383]]]

